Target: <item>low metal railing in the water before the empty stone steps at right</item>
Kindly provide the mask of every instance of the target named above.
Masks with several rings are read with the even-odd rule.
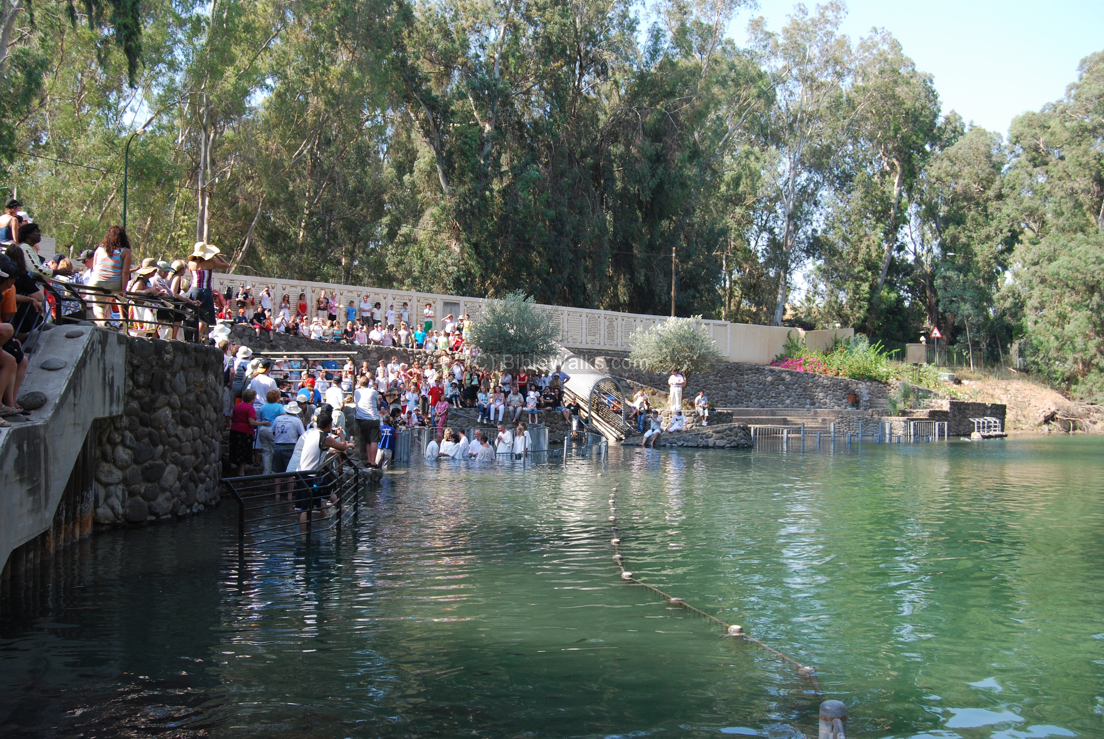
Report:
[[[851,429],[841,427],[840,424],[828,423],[821,425],[794,425],[794,426],[751,426],[752,444],[756,448],[782,448],[790,447],[805,451],[819,448],[835,448],[838,444],[859,444],[862,442],[873,442],[875,444],[901,444],[904,442],[932,442],[942,437],[947,440],[946,421],[910,421],[905,433],[894,433],[893,423],[890,421],[860,421]]]

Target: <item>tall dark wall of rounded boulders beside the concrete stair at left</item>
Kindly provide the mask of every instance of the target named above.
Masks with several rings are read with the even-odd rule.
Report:
[[[219,503],[222,353],[127,338],[123,415],[96,426],[95,520],[140,524]]]

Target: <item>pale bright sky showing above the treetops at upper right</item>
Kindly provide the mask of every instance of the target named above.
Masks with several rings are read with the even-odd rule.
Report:
[[[760,0],[736,19],[733,35],[746,43],[754,15],[778,30],[795,4]],[[847,8],[842,31],[852,42],[884,28],[934,76],[944,113],[1004,135],[1013,116],[1060,98],[1078,62],[1104,50],[1104,0],[850,0]]]

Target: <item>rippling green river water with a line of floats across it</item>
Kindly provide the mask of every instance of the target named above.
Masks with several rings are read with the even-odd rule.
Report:
[[[340,537],[99,535],[0,620],[6,737],[1104,737],[1104,440],[415,463]],[[609,493],[617,485],[616,521]],[[626,569],[816,682],[619,581]]]

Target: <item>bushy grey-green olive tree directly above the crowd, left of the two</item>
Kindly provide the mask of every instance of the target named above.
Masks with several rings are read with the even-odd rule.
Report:
[[[484,303],[471,327],[476,361],[491,369],[519,369],[548,362],[560,353],[560,330],[549,312],[521,291]]]

